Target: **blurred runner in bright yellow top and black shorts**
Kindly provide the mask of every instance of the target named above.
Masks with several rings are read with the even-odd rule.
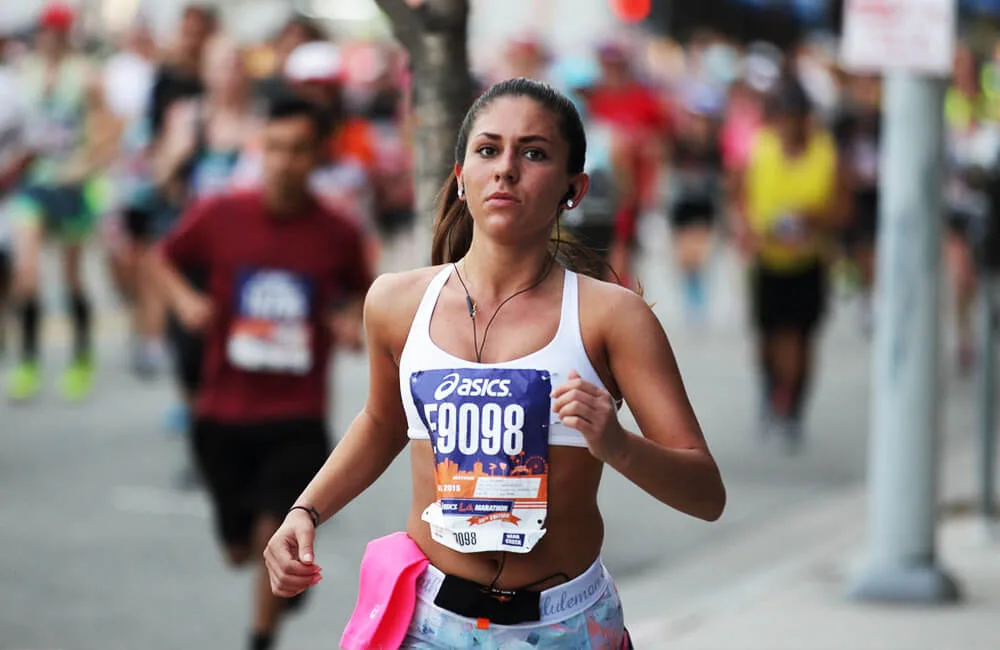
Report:
[[[765,424],[778,425],[795,449],[826,302],[827,254],[849,192],[833,137],[811,125],[802,88],[786,84],[772,99],[770,124],[753,145],[744,178],[743,225],[754,258]]]

